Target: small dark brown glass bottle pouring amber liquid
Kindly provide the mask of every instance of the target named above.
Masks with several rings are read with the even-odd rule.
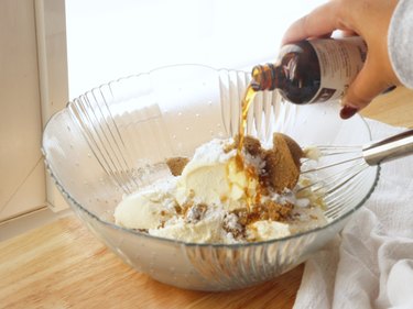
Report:
[[[319,38],[287,44],[275,64],[253,67],[251,87],[279,89],[296,104],[339,99],[360,71],[367,45],[361,37]]]

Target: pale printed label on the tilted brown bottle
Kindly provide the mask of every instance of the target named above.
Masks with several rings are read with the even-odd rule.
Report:
[[[341,98],[366,60],[366,43],[361,37],[309,40],[308,43],[318,56],[320,69],[320,87],[308,103]]]

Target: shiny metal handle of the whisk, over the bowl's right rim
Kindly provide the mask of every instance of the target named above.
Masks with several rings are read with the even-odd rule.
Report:
[[[362,154],[369,165],[413,154],[413,130],[373,143],[365,147]]]

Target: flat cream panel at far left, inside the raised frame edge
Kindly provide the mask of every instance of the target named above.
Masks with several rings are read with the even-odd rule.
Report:
[[[33,0],[0,1],[0,222],[45,206]]]

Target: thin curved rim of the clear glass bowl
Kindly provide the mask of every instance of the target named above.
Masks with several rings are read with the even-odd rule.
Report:
[[[78,210],[83,211],[85,214],[91,217],[93,219],[97,220],[99,223],[102,223],[104,225],[106,225],[106,227],[108,227],[110,229],[119,230],[119,231],[122,231],[122,232],[126,232],[126,233],[129,233],[129,234],[132,234],[132,235],[149,238],[149,239],[153,239],[153,240],[156,240],[156,241],[160,241],[160,242],[165,242],[165,243],[176,244],[176,245],[183,245],[183,246],[188,246],[188,247],[202,246],[202,247],[241,249],[241,247],[250,247],[250,246],[270,245],[270,244],[278,243],[278,242],[285,242],[285,241],[290,241],[290,240],[293,240],[293,239],[298,239],[301,236],[309,235],[309,234],[316,233],[316,232],[322,231],[322,230],[327,230],[327,229],[332,228],[333,225],[335,225],[335,224],[344,221],[345,219],[349,218],[354,212],[356,212],[358,209],[360,209],[361,206],[363,206],[365,202],[370,198],[370,196],[374,191],[374,189],[376,189],[376,187],[378,185],[379,178],[380,178],[380,172],[381,172],[381,165],[380,164],[378,164],[376,166],[370,166],[369,167],[369,168],[376,168],[376,175],[374,175],[374,181],[373,181],[371,188],[369,189],[368,194],[361,199],[360,202],[358,202],[355,207],[352,207],[350,210],[348,210],[347,212],[345,212],[343,216],[338,217],[337,219],[332,220],[330,222],[328,222],[325,225],[317,227],[315,229],[306,230],[306,231],[303,231],[303,232],[294,233],[294,234],[291,234],[291,235],[287,235],[287,236],[271,239],[271,240],[268,240],[268,241],[246,242],[246,243],[196,243],[196,242],[185,242],[185,241],[180,241],[180,240],[174,240],[174,239],[161,238],[161,236],[156,236],[156,235],[151,235],[151,234],[145,233],[145,232],[140,232],[138,230],[123,228],[123,227],[117,225],[116,223],[102,220],[98,216],[96,216],[95,213],[93,213],[89,210],[87,210],[86,208],[84,208],[76,199],[74,199],[69,195],[69,192],[67,192],[64,189],[63,185],[61,184],[61,181],[55,176],[55,174],[53,172],[53,167],[51,166],[51,164],[47,161],[47,155],[46,155],[46,152],[44,151],[44,146],[43,145],[44,145],[44,137],[45,137],[44,133],[47,131],[48,124],[52,122],[52,120],[57,114],[65,112],[69,108],[69,106],[74,103],[74,101],[76,99],[78,99],[78,98],[80,98],[83,96],[86,96],[87,93],[90,93],[90,92],[95,91],[96,89],[100,89],[101,87],[107,87],[107,86],[109,86],[109,85],[111,85],[113,82],[119,82],[119,81],[121,81],[123,79],[128,79],[128,78],[132,78],[132,77],[139,77],[139,76],[142,76],[142,75],[151,74],[152,71],[156,71],[156,70],[161,70],[161,69],[165,69],[165,68],[181,67],[181,66],[198,66],[198,67],[204,67],[204,68],[213,69],[213,70],[216,70],[216,71],[229,70],[229,71],[246,73],[244,70],[241,70],[241,69],[214,68],[211,66],[202,65],[202,64],[176,64],[176,65],[162,66],[162,67],[154,68],[152,70],[148,70],[145,73],[133,74],[133,75],[120,77],[120,78],[113,79],[113,80],[111,80],[111,81],[109,81],[107,84],[101,84],[98,87],[91,88],[90,90],[84,92],[83,95],[79,95],[75,99],[69,100],[64,109],[57,111],[56,113],[54,113],[48,119],[48,121],[46,122],[46,124],[44,126],[43,134],[42,134],[42,153],[43,153],[44,164],[45,164],[45,167],[46,167],[48,174],[51,175],[51,177],[53,178],[55,185],[57,186],[58,190],[62,192],[62,195],[66,199],[68,199],[70,207],[77,207]],[[366,119],[362,115],[360,115],[360,114],[356,114],[355,117],[359,118],[361,120],[361,122],[363,123],[363,125],[366,126],[367,133],[368,133],[368,137],[369,137],[369,140],[371,142],[372,141],[371,129],[370,129],[369,124],[367,123]],[[76,213],[76,211],[75,211],[75,213]]]

